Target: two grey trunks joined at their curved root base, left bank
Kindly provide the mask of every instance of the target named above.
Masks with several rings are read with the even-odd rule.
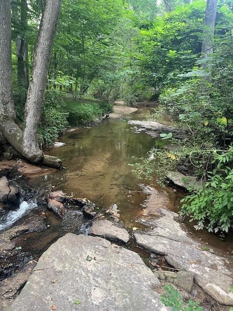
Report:
[[[34,54],[33,81],[26,104],[26,128],[23,133],[17,124],[13,100],[11,0],[0,0],[0,131],[4,138],[25,158],[32,162],[41,161],[45,165],[49,164],[54,167],[61,167],[61,162],[59,159],[51,159],[51,157],[49,162],[47,161],[38,147],[36,131],[60,6],[61,0],[47,0],[41,19]]]

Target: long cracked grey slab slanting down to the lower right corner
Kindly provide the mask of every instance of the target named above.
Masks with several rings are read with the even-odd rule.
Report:
[[[233,306],[233,271],[224,258],[206,251],[193,241],[176,221],[176,213],[160,209],[161,217],[150,222],[154,228],[134,233],[136,244],[165,256],[173,267],[194,273],[195,282],[220,304]]]

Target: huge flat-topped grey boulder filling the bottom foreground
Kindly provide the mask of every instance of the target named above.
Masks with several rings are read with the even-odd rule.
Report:
[[[170,310],[153,290],[158,284],[133,251],[68,233],[41,256],[9,311]]]

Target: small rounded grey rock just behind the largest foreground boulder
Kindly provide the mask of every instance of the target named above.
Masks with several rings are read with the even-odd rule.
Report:
[[[95,220],[88,233],[107,240],[115,240],[123,243],[130,241],[130,235],[126,229],[119,228],[106,219]]]

